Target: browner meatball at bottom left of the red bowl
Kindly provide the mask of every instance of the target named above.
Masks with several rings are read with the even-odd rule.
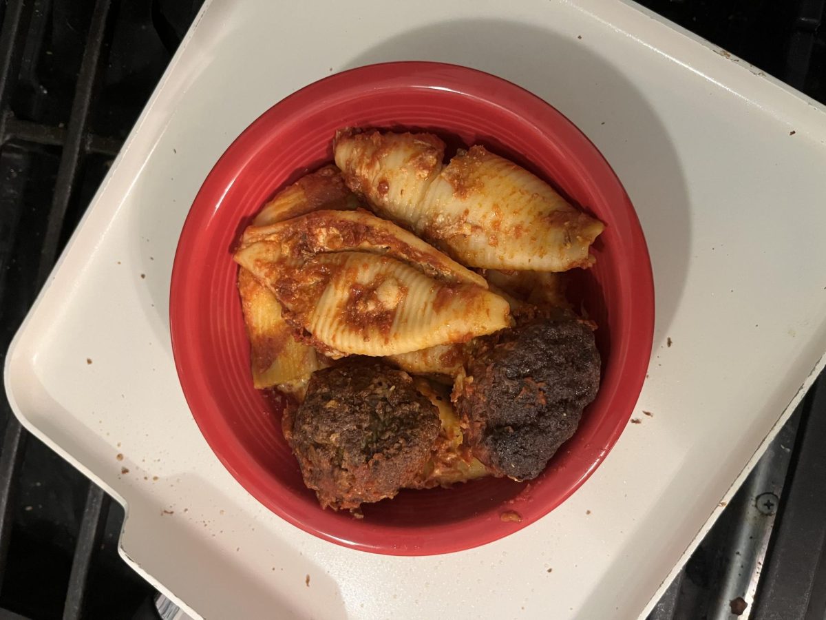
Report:
[[[396,495],[424,469],[440,427],[409,374],[369,359],[313,373],[291,418],[304,483],[334,509]]]

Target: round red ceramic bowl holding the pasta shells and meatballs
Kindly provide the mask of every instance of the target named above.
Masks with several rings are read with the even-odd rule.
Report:
[[[574,294],[599,324],[603,375],[577,434],[526,484],[482,479],[402,491],[364,518],[322,510],[301,482],[280,412],[252,386],[230,249],[263,203],[333,160],[345,126],[434,131],[449,147],[481,143],[553,183],[605,222],[596,266]],[[452,155],[449,151],[449,155]],[[578,307],[578,306],[577,306]],[[626,426],[653,338],[653,279],[634,207],[596,147],[567,118],[503,79],[450,64],[374,64],[312,83],[264,112],[226,150],[183,226],[169,314],[178,376],[207,442],[273,513],[339,545],[400,556],[460,551],[543,517],[596,470]],[[520,522],[501,519],[513,511]]]

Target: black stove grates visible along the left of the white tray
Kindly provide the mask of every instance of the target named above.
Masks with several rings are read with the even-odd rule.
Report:
[[[201,2],[0,7],[0,360]],[[0,428],[0,617],[135,617],[154,589],[117,555],[120,505],[5,398]]]

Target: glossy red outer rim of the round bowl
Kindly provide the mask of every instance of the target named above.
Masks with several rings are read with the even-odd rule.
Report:
[[[202,407],[202,396],[199,393],[192,393],[192,390],[188,390],[186,387],[187,366],[191,355],[187,347],[183,346],[183,340],[185,340],[183,338],[183,332],[185,329],[181,321],[181,317],[183,316],[183,310],[181,309],[183,308],[182,284],[188,275],[188,263],[185,257],[190,254],[190,246],[194,239],[194,236],[188,235],[187,232],[195,226],[194,222],[196,222],[199,217],[202,217],[199,210],[195,207],[198,203],[207,199],[207,193],[210,193],[207,192],[210,179],[214,179],[216,176],[221,176],[221,178],[225,179],[235,179],[240,174],[240,171],[244,168],[245,161],[249,160],[249,158],[244,158],[243,156],[238,157],[236,154],[244,155],[250,146],[255,145],[259,140],[259,126],[272,122],[270,117],[278,114],[280,109],[289,107],[291,103],[296,103],[297,100],[303,98],[336,98],[340,97],[344,92],[352,92],[358,89],[363,90],[365,83],[372,84],[371,88],[377,88],[377,83],[382,83],[382,88],[409,88],[411,84],[408,80],[414,75],[419,81],[430,79],[430,88],[433,88],[438,83],[439,88],[451,88],[459,93],[483,98],[489,103],[494,104],[496,103],[491,102],[491,99],[486,93],[490,93],[493,88],[506,88],[511,96],[515,96],[520,100],[520,117],[529,120],[535,117],[538,126],[540,126],[543,123],[543,121],[540,120],[543,116],[547,117],[549,113],[553,114],[558,117],[557,121],[561,123],[561,126],[565,126],[567,137],[582,141],[583,144],[588,147],[587,150],[591,151],[591,158],[594,159],[594,163],[598,165],[599,176],[601,178],[598,186],[601,189],[601,193],[609,194],[614,198],[615,203],[619,201],[627,207],[626,217],[629,219],[629,232],[633,237],[630,243],[633,255],[629,257],[629,262],[635,265],[632,285],[634,291],[641,294],[629,295],[630,298],[633,298],[630,302],[633,304],[633,312],[629,311],[626,312],[626,314],[628,315],[627,321],[629,322],[628,331],[641,334],[642,341],[638,339],[634,343],[633,349],[627,343],[623,343],[624,346],[617,347],[618,359],[615,362],[622,369],[624,391],[634,395],[634,402],[631,402],[632,398],[629,398],[629,402],[625,403],[627,411],[624,415],[613,416],[606,421],[613,421],[614,424],[613,427],[610,427],[610,432],[608,432],[607,435],[602,435],[605,441],[602,443],[599,453],[591,465],[582,471],[582,475],[576,479],[572,479],[563,492],[555,496],[553,503],[547,503],[543,508],[540,508],[538,511],[535,511],[534,514],[530,514],[527,517],[523,515],[521,522],[510,522],[508,525],[511,527],[507,528],[506,531],[498,527],[491,527],[487,521],[468,519],[462,522],[458,528],[454,525],[449,525],[417,529],[415,532],[417,543],[408,541],[406,544],[399,545],[390,540],[392,537],[391,534],[384,533],[382,535],[384,539],[383,543],[370,544],[363,541],[343,540],[330,535],[328,532],[301,521],[301,519],[292,515],[288,510],[282,508],[277,498],[273,498],[273,495],[265,488],[267,485],[263,484],[262,477],[269,479],[269,476],[258,464],[246,463],[244,467],[245,472],[237,469],[235,465],[236,455],[243,453],[243,446],[240,445],[237,437],[231,435],[231,433],[222,434],[225,430],[229,430],[229,427],[227,426],[225,429],[222,429],[219,428],[220,424],[213,422],[225,423],[225,420],[223,420],[221,416],[205,415],[205,412],[208,412],[208,408]],[[280,116],[283,117],[287,115]],[[558,131],[556,131],[556,133],[558,133]],[[254,152],[254,150],[251,152]],[[214,201],[210,200],[208,202],[214,207]],[[395,61],[368,64],[362,67],[348,69],[310,83],[288,95],[286,98],[283,98],[278,103],[275,103],[272,107],[269,107],[267,111],[263,112],[254,122],[247,126],[247,128],[241,132],[240,136],[235,138],[235,141],[224,151],[209,174],[207,174],[183,223],[181,235],[178,240],[178,248],[175,251],[172,278],[170,281],[169,322],[175,368],[178,372],[178,379],[181,383],[184,397],[187,400],[192,417],[211,450],[218,459],[221,460],[221,463],[230,472],[230,475],[232,475],[249,494],[252,494],[260,503],[263,503],[264,506],[287,522],[325,541],[334,542],[335,544],[360,551],[370,551],[392,556],[431,556],[472,549],[473,547],[496,541],[501,537],[506,537],[513,532],[519,531],[523,527],[527,527],[532,522],[536,522],[539,518],[550,513],[570,497],[570,495],[579,489],[586,479],[591,476],[596,468],[601,465],[602,461],[605,460],[605,456],[608,455],[611,448],[619,439],[620,434],[627,426],[629,418],[634,411],[638,395],[642,389],[646,371],[648,370],[648,362],[653,345],[653,272],[642,227],[639,225],[634,206],[615,174],[614,169],[610,167],[610,164],[596,148],[596,145],[555,107],[515,83],[478,69],[471,69],[458,64]],[[636,355],[632,355],[634,352],[636,352]],[[254,472],[250,471],[250,466],[252,466]],[[319,507],[319,510],[320,509]],[[401,532],[396,531],[396,534],[401,535]]]

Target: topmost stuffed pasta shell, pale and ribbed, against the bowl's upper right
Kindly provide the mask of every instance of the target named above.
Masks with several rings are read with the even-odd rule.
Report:
[[[481,145],[443,165],[430,134],[342,131],[335,163],[377,212],[470,267],[588,267],[603,225],[542,179]]]

